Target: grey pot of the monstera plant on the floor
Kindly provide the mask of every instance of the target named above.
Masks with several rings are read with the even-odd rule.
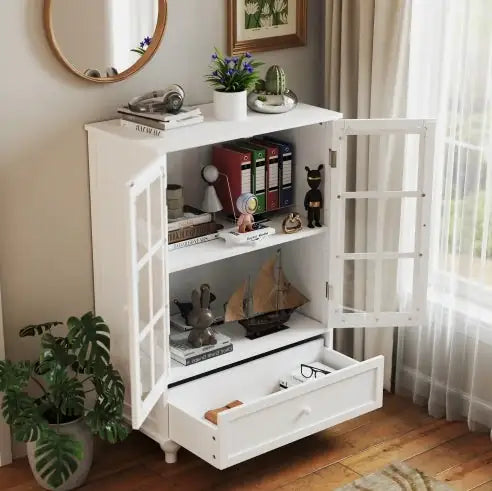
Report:
[[[83,418],[76,419],[70,423],[64,423],[61,425],[50,425],[50,428],[55,429],[61,434],[71,435],[82,444],[83,458],[77,461],[78,466],[75,472],[58,488],[57,491],[66,491],[69,489],[75,489],[84,484],[92,466],[92,457],[94,452],[94,437],[89,428],[85,424]],[[36,470],[36,457],[34,452],[36,451],[36,442],[27,443],[27,457],[29,459],[29,465],[31,471],[36,479],[36,482],[44,489],[52,488]]]

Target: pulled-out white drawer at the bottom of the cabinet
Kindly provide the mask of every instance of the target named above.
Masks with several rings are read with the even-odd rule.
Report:
[[[280,390],[300,363],[337,370]],[[169,391],[171,440],[219,469],[238,464],[382,406],[383,357],[357,362],[316,339]],[[204,418],[230,401],[244,404]]]

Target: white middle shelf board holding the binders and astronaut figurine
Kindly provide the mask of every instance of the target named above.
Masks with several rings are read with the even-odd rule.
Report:
[[[268,247],[277,247],[288,242],[295,240],[307,239],[309,237],[315,237],[325,234],[328,227],[321,228],[307,228],[304,227],[300,232],[294,234],[285,234],[282,231],[282,217],[274,218],[266,225],[273,227],[276,230],[274,235],[269,235],[254,244],[244,244],[232,246],[226,244],[223,239],[211,240],[210,242],[204,242],[190,247],[184,247],[183,249],[176,249],[169,251],[168,264],[169,272],[176,273],[177,271],[183,271],[189,268],[195,268],[197,266],[203,266],[204,264],[213,263],[215,261],[221,261],[229,257],[240,256],[241,254],[248,254],[250,252],[258,251],[260,249],[266,249]],[[306,220],[304,219],[304,224]],[[225,224],[226,227],[231,227],[231,223]]]

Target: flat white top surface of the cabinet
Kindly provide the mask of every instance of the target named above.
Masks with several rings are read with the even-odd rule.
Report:
[[[93,130],[103,132],[107,135],[155,148],[159,153],[167,153],[301,126],[326,123],[342,117],[341,113],[329,109],[299,104],[294,110],[283,114],[261,114],[248,111],[248,117],[244,121],[231,122],[215,119],[213,104],[204,104],[198,107],[205,118],[203,123],[167,130],[163,132],[164,136],[162,137],[145,135],[130,128],[122,127],[119,119],[87,124],[85,128],[89,132]]]

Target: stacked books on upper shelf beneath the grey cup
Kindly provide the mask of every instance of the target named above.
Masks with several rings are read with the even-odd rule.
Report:
[[[168,249],[173,251],[217,239],[221,228],[211,213],[185,205],[183,217],[169,220]]]

